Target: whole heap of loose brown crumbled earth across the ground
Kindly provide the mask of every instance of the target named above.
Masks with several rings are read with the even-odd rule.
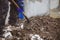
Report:
[[[29,20],[30,23],[24,20],[24,29],[11,31],[13,37],[6,40],[31,40],[30,34],[38,34],[44,40],[60,40],[59,18],[36,16]]]

